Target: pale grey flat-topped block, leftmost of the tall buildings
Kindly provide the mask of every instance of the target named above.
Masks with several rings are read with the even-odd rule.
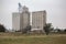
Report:
[[[14,31],[20,30],[20,13],[19,12],[12,13],[12,30]]]

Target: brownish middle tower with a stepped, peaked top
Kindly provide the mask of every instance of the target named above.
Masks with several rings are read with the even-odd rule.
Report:
[[[24,6],[23,11],[20,15],[20,28],[21,30],[30,25],[30,12],[29,9]]]

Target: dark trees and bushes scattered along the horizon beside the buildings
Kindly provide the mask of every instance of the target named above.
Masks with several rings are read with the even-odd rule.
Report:
[[[45,26],[43,26],[43,31],[45,32],[46,35],[48,35],[50,32],[52,32],[52,31],[62,32],[61,29],[54,30],[54,28],[52,28],[52,26],[53,26],[52,23],[46,23]],[[31,32],[31,29],[32,29],[31,25],[28,25],[25,29],[22,30],[22,34]],[[0,32],[6,32],[6,31],[7,31],[7,29],[4,28],[4,25],[0,24]],[[64,32],[66,32],[66,29],[64,30]]]

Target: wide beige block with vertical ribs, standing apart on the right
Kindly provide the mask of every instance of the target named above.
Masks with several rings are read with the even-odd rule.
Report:
[[[46,23],[46,11],[32,12],[32,30],[43,30]]]

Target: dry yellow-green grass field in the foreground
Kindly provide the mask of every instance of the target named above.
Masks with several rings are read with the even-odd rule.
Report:
[[[0,44],[66,44],[66,34],[22,35],[20,33],[0,33]]]

